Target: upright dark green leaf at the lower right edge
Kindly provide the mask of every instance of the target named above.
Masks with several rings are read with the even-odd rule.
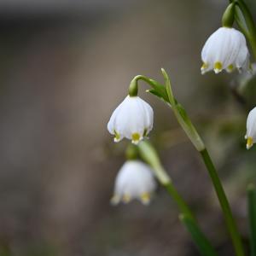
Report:
[[[256,188],[253,184],[247,187],[248,218],[250,228],[251,255],[256,255]]]

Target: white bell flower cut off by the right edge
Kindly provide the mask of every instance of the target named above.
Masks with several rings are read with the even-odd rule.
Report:
[[[253,147],[253,143],[256,143],[256,107],[253,108],[247,116],[247,149]]]

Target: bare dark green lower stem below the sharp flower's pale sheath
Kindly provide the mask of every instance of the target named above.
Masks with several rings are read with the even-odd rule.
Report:
[[[230,209],[229,201],[225,195],[222,184],[219,180],[218,173],[213,166],[210,155],[207,152],[207,149],[203,149],[201,152],[201,157],[203,158],[205,165],[207,166],[207,170],[209,172],[210,177],[212,178],[212,183],[216,194],[218,195],[218,201],[222,207],[222,211],[224,213],[224,219],[227,224],[228,230],[230,231],[230,236],[233,241],[233,245],[235,247],[237,256],[244,256],[243,247],[241,243],[241,236],[236,227],[236,222],[232,216],[232,212]]]

